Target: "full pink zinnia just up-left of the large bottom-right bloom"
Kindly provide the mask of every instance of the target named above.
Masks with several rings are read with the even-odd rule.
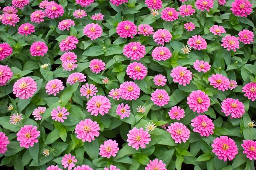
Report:
[[[191,122],[191,126],[195,127],[193,131],[200,133],[201,136],[208,137],[212,135],[213,129],[215,129],[212,120],[205,115],[198,115]]]

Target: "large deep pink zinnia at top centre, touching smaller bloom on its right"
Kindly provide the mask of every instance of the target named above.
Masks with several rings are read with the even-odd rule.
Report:
[[[137,26],[131,21],[122,21],[118,23],[116,33],[122,38],[134,38],[134,35],[137,34]]]

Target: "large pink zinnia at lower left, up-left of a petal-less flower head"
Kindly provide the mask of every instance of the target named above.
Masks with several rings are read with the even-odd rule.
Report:
[[[38,142],[37,137],[40,136],[40,131],[37,130],[37,127],[33,125],[25,125],[21,127],[18,131],[17,141],[20,141],[20,147],[25,147],[26,149],[29,146],[33,147],[34,143]]]

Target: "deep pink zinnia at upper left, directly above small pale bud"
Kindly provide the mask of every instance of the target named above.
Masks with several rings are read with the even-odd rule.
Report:
[[[30,54],[32,56],[44,57],[44,54],[46,54],[47,51],[48,51],[48,47],[46,43],[41,41],[33,42],[33,44],[30,47]]]

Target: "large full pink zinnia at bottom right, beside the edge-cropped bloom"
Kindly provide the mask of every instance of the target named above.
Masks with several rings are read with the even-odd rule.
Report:
[[[218,159],[223,159],[224,161],[233,160],[238,153],[236,142],[227,136],[220,136],[213,140],[212,152],[218,156]]]

